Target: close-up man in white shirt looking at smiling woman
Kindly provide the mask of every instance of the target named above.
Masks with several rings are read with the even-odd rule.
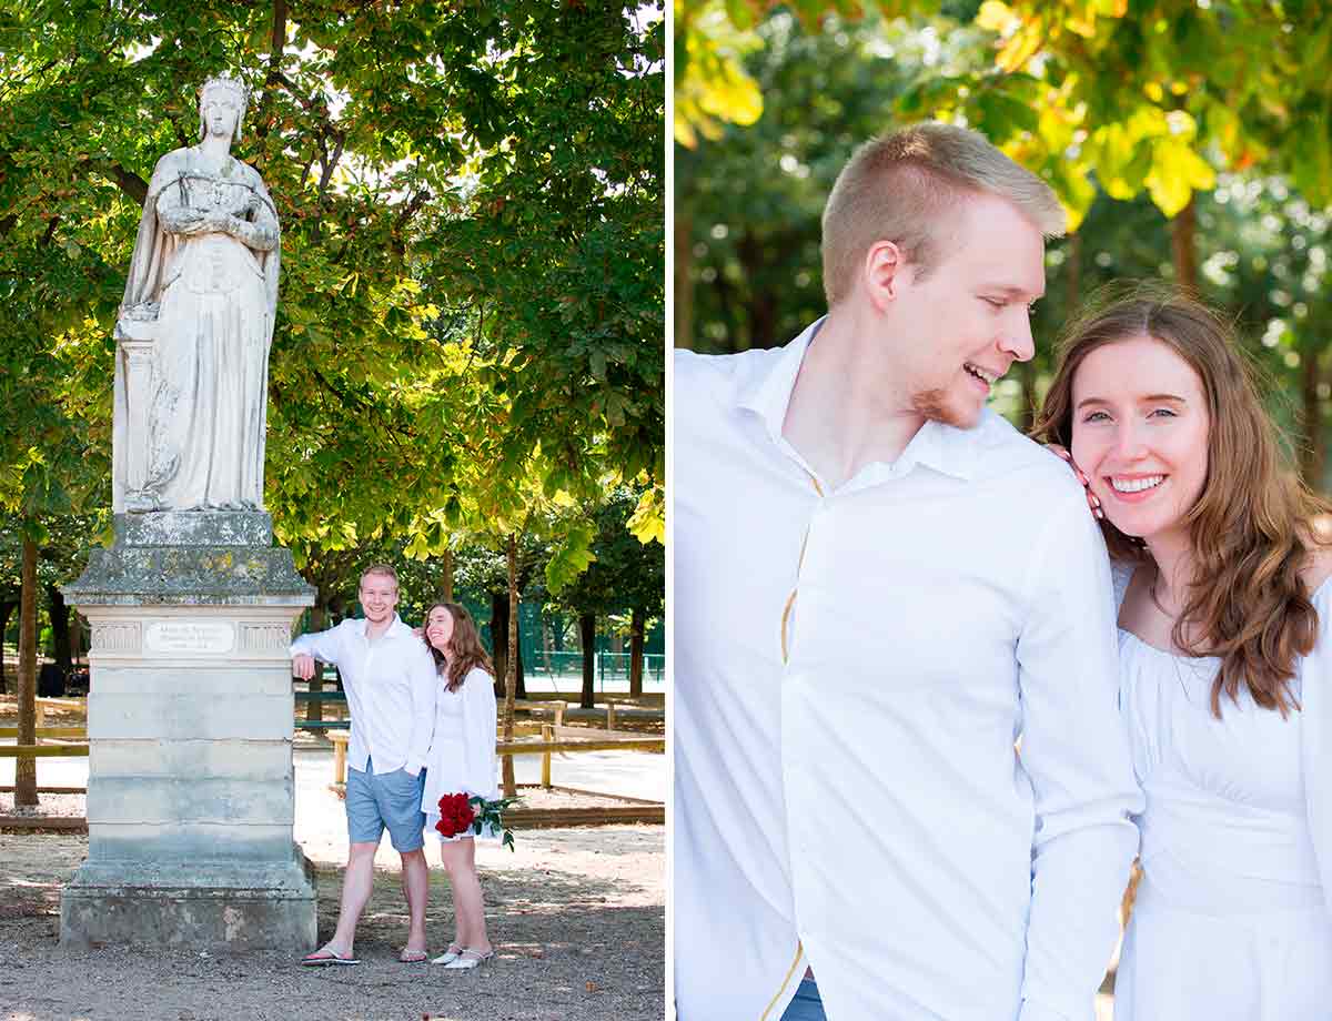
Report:
[[[1094,1021],[1140,807],[1110,566],[984,407],[1063,228],[979,134],[908,128],[829,198],[826,318],[677,357],[682,1021]]]

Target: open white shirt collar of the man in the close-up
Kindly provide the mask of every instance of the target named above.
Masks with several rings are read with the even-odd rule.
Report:
[[[737,394],[737,405],[757,414],[769,438],[779,447],[787,446],[782,437],[782,425],[786,421],[786,409],[791,403],[795,377],[801,373],[805,353],[826,319],[827,315],[823,315],[810,323],[799,337],[782,349],[775,361],[762,363]],[[867,466],[860,475],[867,475],[866,482],[880,482],[887,478],[900,478],[920,465],[967,482],[975,474],[976,441],[986,418],[991,414],[984,409],[980,421],[972,429],[958,429],[928,421],[911,438],[895,462],[891,465],[876,462]]]

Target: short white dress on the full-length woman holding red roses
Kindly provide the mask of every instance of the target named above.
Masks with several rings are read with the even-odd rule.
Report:
[[[426,832],[441,843],[474,836],[469,831],[445,837],[434,828],[440,821],[440,799],[444,795],[476,795],[488,801],[500,796],[496,783],[496,716],[494,679],[484,670],[473,667],[457,691],[449,691],[446,678],[440,675],[421,811],[425,812]],[[486,829],[481,836],[498,839],[500,835]]]

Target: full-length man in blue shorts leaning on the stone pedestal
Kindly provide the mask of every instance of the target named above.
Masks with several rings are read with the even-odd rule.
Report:
[[[398,578],[377,564],[361,575],[365,619],[346,619],[292,643],[292,672],[309,680],[314,662],[332,663],[342,675],[352,735],[346,751],[346,824],[350,853],[342,879],[337,930],[308,965],[358,964],[356,924],[374,884],[374,852],[384,831],[402,856],[402,889],[408,899],[408,942],[404,964],[426,960],[425,905],[429,871],[425,861],[425,815],[421,795],[434,732],[438,690],[434,659],[425,642],[404,624],[394,607]]]

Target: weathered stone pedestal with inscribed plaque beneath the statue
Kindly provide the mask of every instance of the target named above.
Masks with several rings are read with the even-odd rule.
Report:
[[[266,514],[116,516],[65,599],[92,630],[88,859],[60,941],[308,950],[292,837],[292,624],[314,600]]]

